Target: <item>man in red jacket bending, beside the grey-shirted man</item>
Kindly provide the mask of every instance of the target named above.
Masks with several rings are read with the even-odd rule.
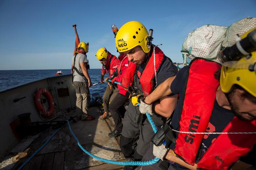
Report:
[[[96,53],[97,59],[102,64],[101,70],[101,83],[103,83],[104,75],[107,73],[109,76],[105,78],[105,81],[110,79],[115,73],[119,60],[116,56],[112,55],[105,47],[100,48]],[[104,113],[100,116],[98,120],[105,120],[109,118],[109,103],[113,100],[113,98],[118,94],[118,88],[112,86],[109,82],[103,95],[103,109]]]

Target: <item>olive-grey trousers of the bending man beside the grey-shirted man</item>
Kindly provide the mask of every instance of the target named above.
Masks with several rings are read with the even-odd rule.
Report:
[[[114,97],[116,97],[118,92],[119,92],[119,90],[117,87],[112,86],[112,88],[110,88],[110,85],[107,85],[105,93],[103,95],[104,112],[109,112],[110,102],[114,99]]]

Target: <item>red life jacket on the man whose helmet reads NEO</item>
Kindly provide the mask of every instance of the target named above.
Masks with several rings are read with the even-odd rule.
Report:
[[[155,70],[154,70],[154,53],[153,53],[153,47],[152,48],[152,54],[149,58],[148,63],[146,64],[146,67],[143,70],[143,73],[140,74],[137,72],[140,78],[140,84],[142,86],[142,91],[144,96],[148,96],[153,91],[153,79],[155,78]],[[155,59],[156,59],[156,72],[158,72],[158,68],[161,66],[162,61],[164,59],[164,53],[159,49],[159,47],[155,47]],[[132,62],[129,62],[128,68],[123,79],[121,85],[125,87],[126,89],[128,86],[133,84],[133,75],[136,70],[137,65],[130,64]]]

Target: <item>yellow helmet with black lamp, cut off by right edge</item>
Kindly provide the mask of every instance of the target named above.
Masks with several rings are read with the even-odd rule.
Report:
[[[241,36],[241,39],[256,30],[251,29]],[[256,35],[256,34],[255,34]],[[223,92],[231,91],[234,84],[241,86],[252,96],[256,97],[256,47],[247,56],[242,56],[238,61],[227,61],[223,63],[220,74],[220,86]]]

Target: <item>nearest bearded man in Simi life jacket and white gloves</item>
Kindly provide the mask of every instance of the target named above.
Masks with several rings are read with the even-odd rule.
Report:
[[[165,130],[166,145],[151,143],[143,158],[158,157],[161,161],[142,169],[229,169],[234,163],[256,165],[256,28],[242,35],[235,45],[220,51],[218,57],[222,66],[195,58],[140,105],[140,110],[148,112],[150,104],[159,98],[180,94],[171,124]]]

